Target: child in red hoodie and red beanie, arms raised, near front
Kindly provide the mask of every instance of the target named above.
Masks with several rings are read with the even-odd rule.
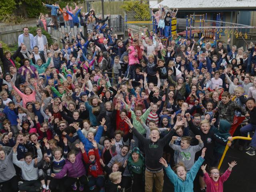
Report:
[[[84,161],[88,167],[88,186],[90,190],[94,190],[96,186],[100,188],[100,192],[104,191],[105,178],[100,164],[100,154],[98,152],[97,142],[92,141],[94,149],[90,149],[88,156],[84,150],[84,145],[80,145]]]

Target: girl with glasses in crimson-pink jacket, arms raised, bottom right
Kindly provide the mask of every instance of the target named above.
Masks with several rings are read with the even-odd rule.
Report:
[[[228,163],[228,165],[228,169],[221,176],[220,170],[218,170],[218,168],[210,168],[210,174],[208,174],[205,170],[206,164],[201,166],[201,169],[204,173],[204,182],[206,183],[207,186],[207,192],[223,192],[223,183],[228,179],[232,171],[232,168],[237,164],[236,161],[232,161],[231,163]]]

